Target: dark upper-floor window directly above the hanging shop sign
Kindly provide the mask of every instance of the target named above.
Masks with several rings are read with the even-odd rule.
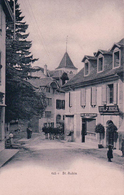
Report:
[[[114,85],[110,84],[107,86],[107,103],[112,104],[114,99]]]

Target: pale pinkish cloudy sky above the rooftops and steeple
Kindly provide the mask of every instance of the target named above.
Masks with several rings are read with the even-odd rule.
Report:
[[[31,52],[39,58],[33,66],[49,70],[59,66],[67,52],[80,70],[84,55],[111,49],[124,38],[124,0],[18,0]]]

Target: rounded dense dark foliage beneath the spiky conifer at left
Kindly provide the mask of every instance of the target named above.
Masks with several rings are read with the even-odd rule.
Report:
[[[45,95],[36,93],[33,86],[20,77],[9,79],[6,86],[6,122],[41,117],[46,107]]]

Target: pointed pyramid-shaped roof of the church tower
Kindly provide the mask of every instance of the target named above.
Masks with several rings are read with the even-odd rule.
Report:
[[[65,52],[59,66],[56,68],[56,69],[59,69],[59,68],[72,68],[72,69],[77,69],[73,62],[71,61],[69,55],[67,52]]]

